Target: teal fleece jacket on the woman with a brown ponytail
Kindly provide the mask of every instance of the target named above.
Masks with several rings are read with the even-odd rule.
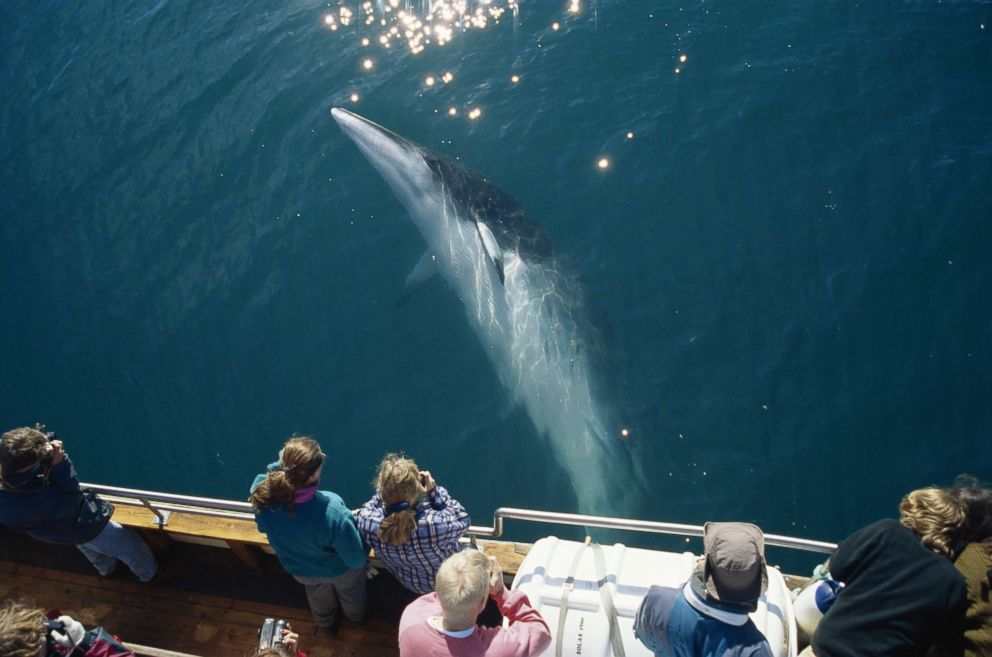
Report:
[[[273,463],[269,470],[278,467]],[[255,477],[251,490],[267,476]],[[294,504],[292,515],[281,506],[256,511],[255,524],[268,536],[282,567],[296,577],[337,577],[368,560],[355,517],[330,491],[317,491],[309,502]]]

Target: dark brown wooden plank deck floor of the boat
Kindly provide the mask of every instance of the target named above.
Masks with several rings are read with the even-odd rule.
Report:
[[[343,620],[331,633],[313,624],[303,587],[277,564],[265,564],[259,573],[226,550],[172,549],[185,562],[182,574],[148,588],[123,566],[100,577],[71,547],[0,534],[0,599],[61,610],[87,628],[103,625],[129,644],[202,657],[251,654],[266,617],[288,620],[310,657],[399,654],[399,616],[413,596],[388,574],[369,583],[368,618],[358,625]]]

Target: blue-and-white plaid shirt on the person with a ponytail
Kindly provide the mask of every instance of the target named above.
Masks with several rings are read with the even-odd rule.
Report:
[[[458,539],[468,530],[470,520],[465,508],[441,486],[434,486],[427,504],[418,505],[417,512],[421,515],[416,534],[402,545],[383,543],[378,533],[386,509],[374,495],[358,510],[358,530],[403,586],[416,593],[432,593],[437,569],[461,549]]]

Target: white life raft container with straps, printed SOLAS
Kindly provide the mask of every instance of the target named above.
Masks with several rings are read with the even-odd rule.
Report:
[[[551,628],[551,646],[541,657],[653,657],[634,636],[634,615],[649,587],[681,587],[695,563],[691,552],[642,550],[620,543],[585,546],[549,536],[531,548],[513,588],[527,594]],[[601,581],[605,591],[600,590]],[[775,568],[768,568],[768,590],[751,620],[768,639],[772,654],[795,657],[791,596]]]

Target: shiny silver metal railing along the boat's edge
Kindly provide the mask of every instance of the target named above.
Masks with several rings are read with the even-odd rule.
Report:
[[[191,513],[215,518],[229,518],[233,520],[254,520],[255,518],[251,504],[248,502],[159,493],[156,491],[103,486],[100,484],[82,484],[82,486],[99,493],[109,502],[147,508],[158,518],[160,527],[165,527],[168,524],[169,515],[173,512]],[[701,537],[703,535],[702,525],[685,525],[674,522],[657,522],[654,520],[633,520],[630,518],[610,518],[608,516],[589,516],[579,513],[558,513],[555,511],[538,511],[535,509],[517,509],[512,507],[500,507],[496,509],[493,512],[493,524],[491,527],[472,525],[469,527],[468,533],[470,536],[479,538],[500,538],[503,536],[504,520],[618,529],[648,534],[667,534],[671,536]],[[805,538],[781,536],[779,534],[765,534],[765,545],[822,553],[831,553],[837,549],[835,543],[812,541]]]

